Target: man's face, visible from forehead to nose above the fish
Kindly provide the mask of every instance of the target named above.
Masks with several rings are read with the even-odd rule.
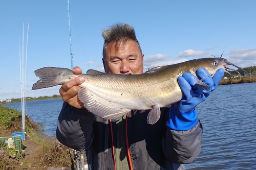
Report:
[[[140,53],[137,43],[133,40],[110,43],[106,48],[103,65],[106,73],[133,74],[143,73],[143,54]]]

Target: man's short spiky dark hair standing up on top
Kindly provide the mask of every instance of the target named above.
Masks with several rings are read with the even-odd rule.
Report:
[[[124,44],[129,41],[133,40],[137,43],[139,50],[142,54],[142,50],[140,47],[140,43],[136,38],[134,28],[127,23],[116,23],[112,25],[108,30],[102,29],[102,37],[104,38],[103,44],[103,59],[105,58],[106,48],[108,47],[109,43],[116,42],[116,50],[118,49],[118,42],[123,42]]]

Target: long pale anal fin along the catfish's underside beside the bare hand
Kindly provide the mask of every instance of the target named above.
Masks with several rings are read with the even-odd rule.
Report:
[[[78,91],[78,98],[90,112],[105,119],[116,119],[131,111],[131,109],[123,108],[114,102],[101,99],[84,88]]]

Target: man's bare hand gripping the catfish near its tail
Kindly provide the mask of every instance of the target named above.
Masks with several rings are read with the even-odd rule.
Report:
[[[82,73],[82,70],[80,69],[80,67],[75,66],[72,69],[72,72],[76,75],[79,75]],[[62,100],[77,109],[84,108],[82,102],[79,101],[77,95],[78,91],[81,89],[81,87],[79,87],[78,85],[82,84],[84,80],[84,77],[79,76],[63,84],[59,89]]]

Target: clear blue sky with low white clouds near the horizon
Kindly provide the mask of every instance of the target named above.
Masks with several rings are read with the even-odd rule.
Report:
[[[69,0],[69,5],[73,65],[84,73],[103,71],[101,31],[117,22],[134,27],[144,70],[222,52],[242,68],[256,65],[254,0]],[[59,94],[60,86],[31,88],[39,80],[34,70],[71,68],[67,1],[1,0],[0,7],[0,101],[20,98],[22,90],[33,98]]]

